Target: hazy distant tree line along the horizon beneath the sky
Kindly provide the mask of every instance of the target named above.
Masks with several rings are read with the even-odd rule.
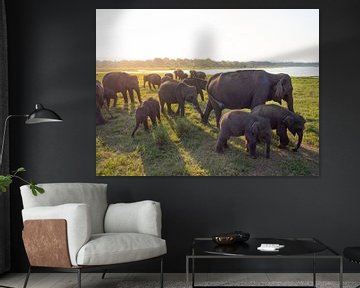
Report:
[[[97,69],[105,68],[262,68],[290,66],[319,66],[319,63],[308,62],[270,62],[270,61],[215,61],[207,59],[169,59],[154,58],[152,60],[96,60]]]

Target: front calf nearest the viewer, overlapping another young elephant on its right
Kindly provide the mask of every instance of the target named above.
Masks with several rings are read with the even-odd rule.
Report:
[[[266,158],[269,158],[271,134],[269,120],[248,112],[232,110],[221,117],[216,151],[223,153],[231,136],[245,135],[246,150],[250,151],[251,158],[256,158],[256,144],[260,142],[265,142]]]

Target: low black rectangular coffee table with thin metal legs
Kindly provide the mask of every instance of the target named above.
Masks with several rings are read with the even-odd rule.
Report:
[[[261,243],[281,244],[284,248],[278,252],[263,252],[257,250]],[[316,260],[328,259],[339,261],[339,287],[343,287],[343,258],[335,250],[315,238],[250,238],[245,243],[229,246],[219,246],[211,238],[194,238],[191,254],[186,255],[186,287],[189,287],[189,271],[191,268],[191,287],[209,287],[195,285],[195,260],[201,259],[312,259],[313,285],[293,287],[316,288]],[[191,266],[191,267],[190,267]],[[217,287],[217,286],[210,286]],[[229,286],[221,286],[229,287]],[[248,287],[248,286],[230,286]],[[256,287],[256,286],[251,286]],[[262,286],[264,287],[264,286]],[[276,287],[276,286],[271,286]],[[281,286],[284,287],[284,286]],[[288,286],[286,286],[288,287]]]

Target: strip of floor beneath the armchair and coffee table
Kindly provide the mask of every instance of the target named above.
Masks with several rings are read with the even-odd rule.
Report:
[[[311,284],[312,274],[290,274],[290,273],[212,273],[212,274],[197,274],[197,281],[224,281],[228,279],[231,281],[242,281],[245,279],[256,281],[259,285],[264,283],[276,281],[281,283],[282,281],[293,281],[294,285],[302,281],[308,281]],[[14,288],[23,287],[25,274],[5,274],[0,276],[1,285],[10,286]],[[335,273],[319,273],[317,274],[317,281],[333,281],[331,287],[336,287],[338,283],[338,274]],[[106,275],[106,279],[101,279],[101,273],[83,273],[82,275],[82,287],[94,288],[94,287],[106,287],[106,288],[119,288],[119,287],[158,287],[159,274],[125,274],[125,273],[109,273]],[[141,283],[146,283],[142,286]],[[357,283],[357,284],[356,284]],[[344,274],[344,287],[354,287],[354,284],[360,284],[360,273]],[[324,284],[323,284],[324,285]],[[326,285],[325,285],[326,286]],[[76,273],[33,273],[31,274],[28,288],[75,288],[77,287]],[[165,274],[165,288],[178,288],[185,287],[185,274]],[[322,287],[320,285],[320,287]],[[338,287],[338,286],[337,286]]]

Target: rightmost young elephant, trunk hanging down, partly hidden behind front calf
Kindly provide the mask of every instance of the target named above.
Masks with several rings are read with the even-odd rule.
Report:
[[[294,136],[298,135],[298,143],[292,150],[296,152],[300,148],[306,123],[300,114],[274,104],[256,106],[251,113],[270,120],[271,129],[276,129],[276,134],[280,138],[279,148],[286,148],[289,144],[287,130]]]

